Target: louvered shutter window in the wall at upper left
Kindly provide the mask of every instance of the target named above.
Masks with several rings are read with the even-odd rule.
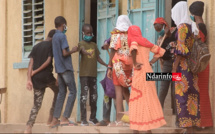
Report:
[[[44,40],[44,0],[22,0],[23,4],[23,59],[32,48]]]

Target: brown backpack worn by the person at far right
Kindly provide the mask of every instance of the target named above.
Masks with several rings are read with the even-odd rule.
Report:
[[[208,45],[201,39],[195,39],[191,55],[188,57],[188,66],[193,74],[198,74],[205,70],[209,64],[210,52]]]

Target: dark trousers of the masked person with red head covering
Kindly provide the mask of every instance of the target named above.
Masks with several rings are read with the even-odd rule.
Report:
[[[173,60],[164,60],[162,72],[171,73],[172,72],[172,64],[173,64]],[[161,106],[163,108],[164,107],[164,101],[166,99],[170,84],[171,84],[171,104],[172,104],[173,113],[175,113],[176,105],[175,105],[175,88],[174,88],[175,85],[174,85],[174,82],[161,81],[160,91],[159,91],[158,97],[159,97]]]

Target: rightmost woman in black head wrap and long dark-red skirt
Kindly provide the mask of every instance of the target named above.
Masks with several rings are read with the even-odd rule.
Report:
[[[202,42],[206,42],[207,29],[204,24],[202,14],[204,12],[204,2],[196,1],[193,2],[189,7],[190,13],[192,14],[191,18],[194,20],[194,24],[198,28],[196,33],[197,38],[201,39]],[[198,74],[198,86],[199,86],[199,95],[200,95],[200,115],[201,115],[201,127],[212,127],[212,113],[209,97],[209,65],[207,68]]]

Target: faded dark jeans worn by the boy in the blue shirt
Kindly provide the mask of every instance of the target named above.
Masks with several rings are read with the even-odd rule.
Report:
[[[59,93],[57,96],[57,101],[55,105],[55,111],[54,111],[54,117],[60,118],[61,111],[63,108],[63,104],[65,101],[66,93],[67,93],[67,87],[69,89],[68,99],[65,107],[65,111],[63,116],[65,118],[69,118],[72,109],[74,106],[74,102],[76,99],[76,85],[75,85],[75,79],[74,79],[74,73],[72,71],[66,71],[64,73],[58,74],[58,85],[59,85]]]

